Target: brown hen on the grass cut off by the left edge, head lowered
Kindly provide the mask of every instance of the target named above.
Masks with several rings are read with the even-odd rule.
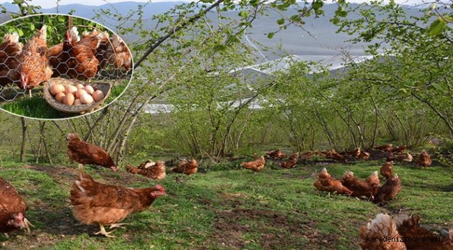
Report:
[[[0,177],[0,233],[10,233],[17,229],[30,232],[33,226],[26,218],[26,203],[10,183]]]

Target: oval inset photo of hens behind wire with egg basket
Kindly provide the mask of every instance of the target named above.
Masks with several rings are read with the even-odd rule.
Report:
[[[93,113],[118,99],[133,74],[132,53],[89,19],[43,14],[0,25],[0,109],[36,119]]]

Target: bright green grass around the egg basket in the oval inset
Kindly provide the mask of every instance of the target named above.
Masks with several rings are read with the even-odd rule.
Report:
[[[121,81],[120,84],[112,88],[105,104],[114,101],[116,97],[123,93],[128,86],[128,83],[129,81]],[[31,98],[29,97],[28,91],[26,91],[25,94],[18,95],[15,101],[4,101],[0,103],[0,108],[15,115],[40,119],[62,119],[80,115],[77,113],[64,113],[52,108],[52,106],[45,101],[42,90],[42,87],[38,87],[36,90],[33,89]]]

